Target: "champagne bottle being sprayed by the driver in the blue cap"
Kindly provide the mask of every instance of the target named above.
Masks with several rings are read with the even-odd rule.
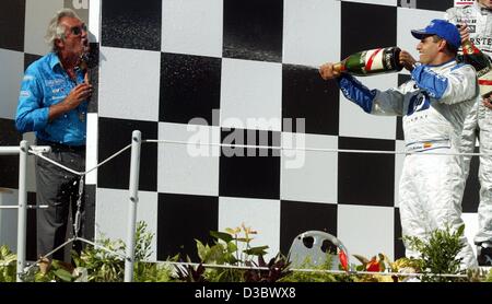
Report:
[[[385,47],[363,50],[350,55],[342,61],[335,63],[333,69],[354,75],[370,75],[401,71],[399,47]]]

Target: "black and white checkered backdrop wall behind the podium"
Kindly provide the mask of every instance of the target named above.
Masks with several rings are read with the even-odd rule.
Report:
[[[304,140],[307,148],[402,151],[401,119],[363,113],[309,67],[383,46],[397,45],[417,57],[410,30],[442,17],[453,4],[91,0],[91,14],[101,12],[101,34],[93,33],[101,65],[87,164],[127,145],[134,129],[144,139],[187,141],[202,135],[204,142],[231,143],[242,133],[248,144],[263,145],[265,136],[269,147]],[[15,49],[16,43],[8,46]],[[19,51],[0,50],[0,57],[22,59]],[[23,66],[15,67],[21,73]],[[8,96],[16,101],[12,86],[19,87],[20,78],[11,74]],[[402,71],[362,81],[388,89],[407,79]],[[305,118],[304,131],[296,118]],[[260,119],[268,124],[251,124]],[[216,147],[203,149],[211,156],[194,157],[189,147],[176,143],[142,147],[138,219],[156,233],[153,258],[178,252],[196,258],[194,239],[209,241],[209,231],[243,222],[259,233],[253,245],[269,245],[270,254],[286,254],[298,233],[321,230],[337,235],[350,253],[403,255],[397,200],[403,156],[306,151],[304,164],[293,168],[289,163],[301,155],[288,151],[277,156],[271,149],[250,149],[245,154],[268,156],[227,157]],[[129,160],[127,151],[89,178],[97,185],[96,233],[125,238]],[[469,236],[477,225],[476,161],[464,201]]]

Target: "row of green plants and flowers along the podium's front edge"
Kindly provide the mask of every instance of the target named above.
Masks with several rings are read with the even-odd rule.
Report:
[[[151,256],[151,244],[153,234],[147,232],[147,224],[139,222],[136,232],[136,262],[134,277],[137,282],[370,282],[370,281],[398,281],[399,278],[384,276],[379,271],[389,270],[391,272],[422,272],[425,276],[422,281],[462,281],[466,279],[445,278],[430,276],[431,273],[460,273],[457,254],[464,245],[460,236],[464,234],[464,226],[456,232],[450,229],[436,230],[431,234],[427,242],[417,237],[405,237],[411,248],[421,254],[421,259],[401,258],[395,262],[379,254],[372,259],[361,256],[356,258],[362,262],[358,269],[365,271],[376,271],[375,274],[355,276],[354,273],[333,274],[323,270],[332,267],[332,255],[329,254],[325,262],[314,266],[307,258],[300,269],[312,269],[314,271],[292,271],[288,259],[278,254],[267,264],[263,255],[268,246],[251,247],[254,239],[251,236],[257,232],[246,227],[244,224],[236,229],[226,229],[225,232],[211,232],[214,242],[212,245],[197,242],[198,256],[201,260],[198,267],[186,266],[175,267],[179,256],[168,258],[164,262],[143,262]],[[99,237],[97,247],[86,246],[81,255],[72,253],[72,258],[77,265],[74,268],[70,264],[52,260],[48,271],[42,273],[39,269],[32,268],[24,276],[24,281],[36,282],[120,282],[125,274],[125,244],[120,241],[110,241]],[[119,255],[110,254],[99,246],[116,252]],[[355,255],[354,255],[355,256]],[[189,258],[188,258],[189,261]],[[223,266],[245,266],[265,267],[268,269],[231,269],[231,268],[204,268],[204,264]],[[15,281],[16,257],[7,246],[0,247],[0,282]],[[316,271],[319,270],[319,271]],[[37,272],[36,272],[37,271]],[[492,270],[487,273],[483,270],[467,272],[468,281],[492,282]]]

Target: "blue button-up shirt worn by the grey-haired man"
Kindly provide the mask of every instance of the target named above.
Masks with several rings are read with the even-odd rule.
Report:
[[[60,59],[49,52],[33,62],[21,84],[15,127],[22,133],[35,131],[36,138],[68,145],[84,145],[87,101],[48,121],[49,106],[62,102],[84,73],[75,69],[77,83],[63,70]]]

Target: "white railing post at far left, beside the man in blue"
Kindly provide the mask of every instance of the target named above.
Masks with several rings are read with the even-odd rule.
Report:
[[[17,211],[17,268],[16,281],[22,282],[22,273],[25,267],[25,238],[27,225],[27,190],[26,190],[26,169],[28,143],[21,141],[21,151],[19,154],[19,211]]]

